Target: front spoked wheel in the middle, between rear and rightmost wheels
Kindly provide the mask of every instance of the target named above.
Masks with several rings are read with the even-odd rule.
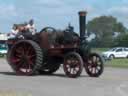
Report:
[[[67,54],[63,64],[64,72],[68,77],[76,78],[80,76],[83,69],[83,60],[76,52]]]

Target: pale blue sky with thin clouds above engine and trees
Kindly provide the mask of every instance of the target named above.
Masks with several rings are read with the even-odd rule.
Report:
[[[78,32],[81,10],[88,12],[87,21],[112,15],[128,28],[128,0],[0,0],[0,32],[10,32],[14,23],[30,19],[37,31],[46,26],[65,29],[70,22]]]

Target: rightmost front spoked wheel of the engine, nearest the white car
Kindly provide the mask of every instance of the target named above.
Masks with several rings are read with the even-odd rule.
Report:
[[[103,59],[100,55],[90,54],[85,62],[85,70],[91,77],[99,77],[103,73],[104,65]]]

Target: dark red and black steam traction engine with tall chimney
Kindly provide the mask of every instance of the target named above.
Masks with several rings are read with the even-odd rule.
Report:
[[[73,30],[56,30],[45,27],[24,39],[9,39],[7,61],[18,75],[52,74],[60,65],[68,77],[80,76],[84,68],[91,77],[103,72],[100,55],[91,53],[85,38],[86,12],[79,12],[80,36]],[[72,29],[72,28],[70,28]]]

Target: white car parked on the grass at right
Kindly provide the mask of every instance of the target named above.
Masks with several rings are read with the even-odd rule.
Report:
[[[102,53],[105,59],[128,58],[128,48],[116,47]]]

